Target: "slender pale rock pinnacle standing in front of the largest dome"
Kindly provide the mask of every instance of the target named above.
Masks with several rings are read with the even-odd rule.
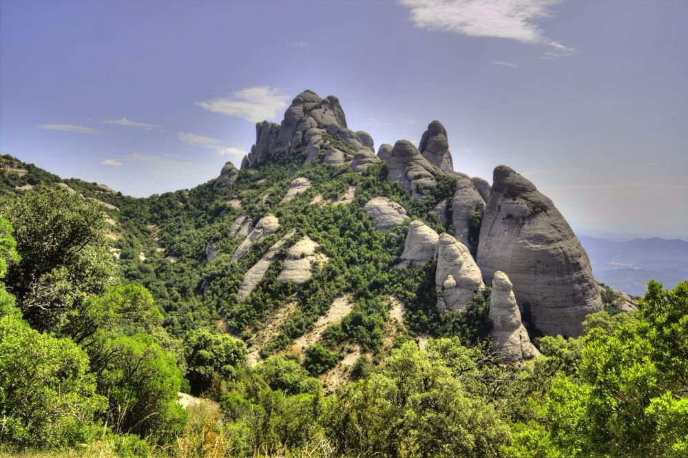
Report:
[[[492,278],[490,309],[492,345],[503,362],[530,360],[540,354],[530,343],[528,331],[521,322],[521,311],[516,303],[512,283],[508,276],[497,271]]]

